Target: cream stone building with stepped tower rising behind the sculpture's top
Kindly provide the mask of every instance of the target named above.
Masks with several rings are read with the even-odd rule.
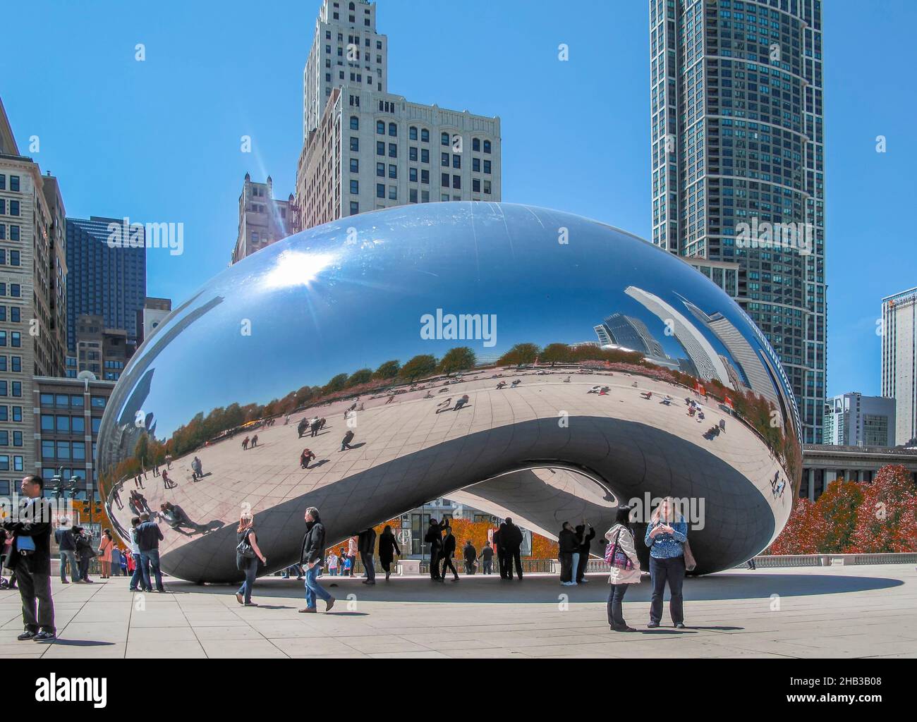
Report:
[[[375,3],[324,0],[304,71],[303,228],[404,203],[500,201],[500,118],[388,93]]]

